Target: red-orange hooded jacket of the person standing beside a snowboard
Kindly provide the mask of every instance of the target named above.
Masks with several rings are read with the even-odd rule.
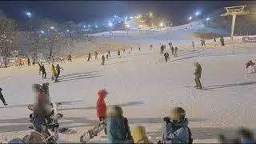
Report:
[[[96,109],[98,117],[106,117],[106,102],[104,101],[104,94],[102,90],[98,92],[98,101]]]

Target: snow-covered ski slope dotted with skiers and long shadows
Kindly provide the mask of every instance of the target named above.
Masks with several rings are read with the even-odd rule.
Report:
[[[179,33],[182,35],[182,30]],[[60,134],[65,142],[79,142],[79,137],[98,122],[95,105],[97,92],[102,88],[110,93],[106,104],[121,105],[130,128],[138,123],[146,126],[146,134],[153,142],[161,139],[162,118],[174,106],[186,110],[194,142],[218,142],[218,134],[234,134],[238,126],[256,130],[256,74],[245,70],[245,62],[256,58],[255,45],[236,40],[226,42],[225,47],[206,43],[202,49],[197,45],[192,51],[190,43],[187,46],[178,43],[186,42],[186,38],[171,34],[171,30],[162,38],[169,37],[167,34],[173,35],[172,38],[177,36],[173,43],[181,45],[178,58],[171,57],[170,62],[165,62],[159,54],[159,41],[148,35],[130,36],[142,44],[142,51],[138,47],[131,54],[128,50],[126,54],[121,51],[122,58],[113,52],[105,66],[100,65],[100,59],[84,62],[80,58],[60,63],[64,70],[58,83],[50,81],[48,65],[47,79],[38,75],[38,66],[1,69],[0,86],[10,106],[0,107],[0,142],[29,134],[31,111],[26,104],[34,102],[32,84],[42,82],[50,82],[51,101],[63,103],[59,106],[64,114],[60,126],[73,130],[71,134]],[[150,44],[154,47],[152,51]],[[202,65],[205,90],[193,88],[193,62]],[[101,133],[91,142],[107,142],[107,138]]]

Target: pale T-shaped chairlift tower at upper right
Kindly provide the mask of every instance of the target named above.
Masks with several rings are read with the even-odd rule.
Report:
[[[234,37],[234,25],[235,25],[235,18],[236,18],[236,16],[237,15],[249,14],[249,11],[245,11],[244,10],[245,7],[246,6],[225,7],[226,13],[221,15],[221,16],[232,15],[232,25],[231,25],[231,34],[230,34],[231,41],[233,41],[233,37]]]

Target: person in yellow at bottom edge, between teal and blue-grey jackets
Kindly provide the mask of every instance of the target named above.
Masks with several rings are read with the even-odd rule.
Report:
[[[153,143],[146,137],[145,127],[142,125],[134,126],[131,135],[134,138],[134,143]]]

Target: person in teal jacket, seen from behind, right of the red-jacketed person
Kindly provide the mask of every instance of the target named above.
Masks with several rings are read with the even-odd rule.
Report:
[[[106,134],[110,143],[133,141],[127,118],[122,116],[121,106],[110,106],[106,121]]]

